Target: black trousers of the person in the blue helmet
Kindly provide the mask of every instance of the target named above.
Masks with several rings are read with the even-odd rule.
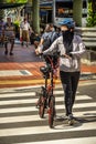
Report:
[[[72,114],[73,104],[75,101],[75,94],[77,90],[77,84],[79,81],[81,72],[63,72],[60,71],[61,82],[64,89],[64,100],[66,115]]]

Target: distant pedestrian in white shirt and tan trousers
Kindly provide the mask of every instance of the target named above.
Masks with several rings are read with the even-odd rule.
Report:
[[[26,47],[29,45],[30,42],[30,32],[31,32],[31,27],[30,23],[28,22],[26,18],[23,19],[23,21],[20,24],[20,31],[21,31],[21,45],[23,47],[24,42],[26,42]]]

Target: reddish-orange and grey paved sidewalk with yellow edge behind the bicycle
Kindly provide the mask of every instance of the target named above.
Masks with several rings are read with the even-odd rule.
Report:
[[[39,85],[44,83],[40,66],[43,61],[35,55],[34,47],[14,45],[13,55],[4,55],[0,47],[0,88]],[[96,65],[82,64],[81,80],[96,79]],[[56,81],[60,83],[60,79]]]

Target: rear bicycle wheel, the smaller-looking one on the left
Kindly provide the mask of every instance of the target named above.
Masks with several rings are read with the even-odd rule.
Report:
[[[45,99],[43,95],[40,95],[39,115],[41,119],[44,117],[44,111],[45,111]]]

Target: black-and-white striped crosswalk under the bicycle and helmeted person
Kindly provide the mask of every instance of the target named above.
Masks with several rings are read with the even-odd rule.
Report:
[[[55,89],[58,120],[54,128],[47,125],[47,113],[40,119],[35,102],[38,96],[30,89],[0,92],[0,144],[87,144],[96,143],[96,102],[90,95],[76,93],[74,116],[77,121],[68,126],[64,120],[64,93]],[[88,138],[87,138],[88,137]]]

